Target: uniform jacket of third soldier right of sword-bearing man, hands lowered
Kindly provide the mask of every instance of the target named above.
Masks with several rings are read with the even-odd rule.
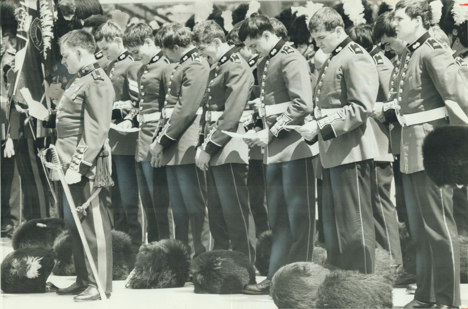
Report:
[[[210,65],[199,57],[195,48],[188,51],[181,61],[164,73],[166,90],[164,110],[174,108],[170,118],[164,118],[161,132],[156,140],[164,148],[164,165],[195,163],[195,144],[207,89]]]

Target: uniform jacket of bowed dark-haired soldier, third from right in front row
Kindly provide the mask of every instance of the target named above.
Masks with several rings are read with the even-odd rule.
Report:
[[[261,108],[292,102],[282,114],[262,117],[263,128],[269,128],[274,135],[265,147],[265,164],[312,157],[310,146],[300,134],[283,128],[284,125],[304,124],[304,118],[313,109],[307,68],[306,58],[282,39],[258,64]]]

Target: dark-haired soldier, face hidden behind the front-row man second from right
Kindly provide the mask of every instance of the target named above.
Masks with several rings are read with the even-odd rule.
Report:
[[[377,102],[387,101],[393,65],[373,43],[373,27],[362,24],[346,29],[351,39],[361,45],[373,58],[379,74],[379,93]],[[377,103],[376,103],[377,104]],[[390,199],[393,180],[393,155],[390,149],[389,128],[387,123],[369,118],[378,146],[371,171],[372,208],[375,227],[375,241],[378,247],[390,252],[395,269],[402,266],[402,249],[398,231],[398,218],[395,205]],[[404,285],[403,287],[406,287]]]

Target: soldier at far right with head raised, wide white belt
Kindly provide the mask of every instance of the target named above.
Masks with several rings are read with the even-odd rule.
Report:
[[[454,308],[461,303],[453,189],[437,187],[424,172],[422,144],[434,127],[468,124],[468,89],[451,52],[430,36],[431,19],[425,1],[396,4],[397,36],[411,43],[390,83],[390,92],[398,97],[384,103],[386,120],[403,127],[400,169],[417,245],[417,290],[404,308]]]

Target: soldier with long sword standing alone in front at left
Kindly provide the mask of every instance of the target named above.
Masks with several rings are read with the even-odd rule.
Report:
[[[93,36],[83,30],[73,30],[62,36],[62,63],[68,72],[76,75],[68,82],[57,110],[50,111],[43,124],[46,128],[57,129],[55,147],[63,165],[65,180],[70,185],[75,206],[82,208],[79,213],[81,226],[99,273],[99,280],[105,293],[110,295],[112,235],[106,190],[101,190],[101,187],[110,185],[111,180],[110,175],[100,174],[101,168],[96,165],[108,164],[109,161],[107,156],[110,147],[106,139],[115,93],[109,77],[96,63],[95,48]],[[57,176],[52,171],[51,179],[58,180]],[[83,250],[65,194],[64,206],[66,225],[73,239],[72,251],[77,278],[70,287],[60,288],[57,294],[76,295],[74,301],[98,300],[101,296],[97,290],[96,278]]]

